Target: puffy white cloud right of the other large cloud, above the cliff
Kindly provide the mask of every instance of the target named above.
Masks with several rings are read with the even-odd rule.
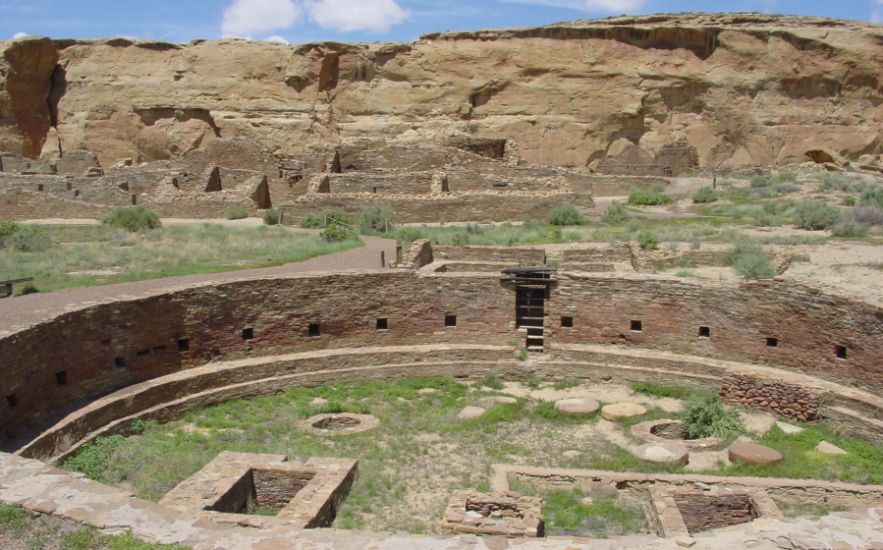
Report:
[[[339,32],[387,32],[408,18],[395,0],[305,0],[310,19]]]

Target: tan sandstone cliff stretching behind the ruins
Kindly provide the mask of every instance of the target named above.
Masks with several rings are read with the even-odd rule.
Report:
[[[651,174],[671,158],[776,164],[823,148],[855,159],[881,152],[881,57],[879,25],[757,14],[410,44],[26,39],[0,43],[0,150],[37,157],[48,141],[110,166],[219,137],[283,155],[470,138],[528,162]]]

